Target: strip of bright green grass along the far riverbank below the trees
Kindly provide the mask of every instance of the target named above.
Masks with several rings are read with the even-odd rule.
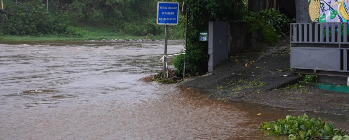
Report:
[[[130,36],[123,33],[117,33],[108,28],[99,28],[91,26],[69,27],[77,36],[66,37],[65,35],[44,35],[44,36],[12,36],[5,35],[0,37],[0,41],[82,41],[82,40],[102,40],[102,39],[164,39],[164,35],[143,37]],[[181,39],[171,37],[170,39]]]

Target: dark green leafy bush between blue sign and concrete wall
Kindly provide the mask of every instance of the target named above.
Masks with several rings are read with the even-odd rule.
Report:
[[[210,21],[237,21],[247,13],[244,0],[179,0],[189,8],[187,54],[174,58],[178,75],[183,75],[186,60],[186,73],[196,75],[207,72],[208,43],[199,42],[199,32],[208,31]]]

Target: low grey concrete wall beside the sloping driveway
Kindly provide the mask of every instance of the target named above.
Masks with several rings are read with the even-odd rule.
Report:
[[[208,71],[212,72],[222,61],[244,50],[263,49],[266,43],[256,38],[256,32],[248,32],[247,23],[209,22]]]

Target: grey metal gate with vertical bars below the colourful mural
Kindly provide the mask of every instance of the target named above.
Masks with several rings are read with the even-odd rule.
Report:
[[[349,72],[348,24],[292,23],[291,68]]]

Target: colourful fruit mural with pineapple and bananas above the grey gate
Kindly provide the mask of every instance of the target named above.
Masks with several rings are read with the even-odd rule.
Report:
[[[309,0],[313,22],[348,22],[349,0]]]

